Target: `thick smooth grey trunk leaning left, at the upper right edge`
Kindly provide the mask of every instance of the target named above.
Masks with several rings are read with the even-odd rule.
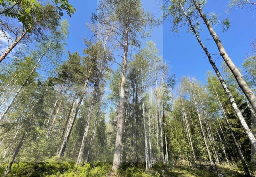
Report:
[[[195,7],[197,8],[199,14],[201,15],[202,19],[204,20],[212,38],[214,39],[214,41],[215,41],[215,43],[216,43],[216,45],[219,49],[221,57],[223,58],[223,60],[225,61],[225,63],[227,64],[227,66],[229,67],[231,72],[233,73],[234,77],[237,80],[237,83],[239,84],[239,87],[242,89],[244,95],[247,97],[247,99],[249,100],[249,102],[252,105],[252,108],[253,108],[254,112],[256,113],[256,97],[255,97],[254,93],[249,88],[246,81],[243,79],[243,77],[242,77],[240,71],[238,70],[238,68],[236,67],[236,65],[234,65],[232,60],[229,58],[229,56],[228,56],[225,48],[223,47],[218,35],[215,33],[213,27],[211,26],[209,20],[206,18],[204,12],[202,11],[202,9],[199,6],[199,4],[197,3],[197,1],[193,0],[193,2],[195,4]],[[255,148],[256,148],[256,146],[255,146]]]

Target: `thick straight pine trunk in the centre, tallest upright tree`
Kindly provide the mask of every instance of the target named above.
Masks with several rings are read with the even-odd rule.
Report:
[[[120,88],[120,98],[119,98],[119,113],[117,118],[117,131],[115,139],[115,149],[113,158],[113,170],[119,170],[121,165],[121,151],[122,151],[122,134],[123,134],[123,115],[124,115],[124,93],[125,93],[125,75],[126,75],[126,64],[127,64],[127,53],[128,53],[128,29],[125,35],[125,45],[124,45],[124,58],[123,58],[123,72],[122,81]]]

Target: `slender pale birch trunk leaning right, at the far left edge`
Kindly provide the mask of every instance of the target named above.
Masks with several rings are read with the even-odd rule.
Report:
[[[54,40],[54,39],[53,39]],[[30,78],[30,76],[33,74],[33,72],[36,70],[37,65],[39,64],[39,62],[41,61],[41,59],[45,56],[46,52],[49,50],[49,48],[51,47],[53,40],[51,41],[51,43],[47,46],[47,48],[44,50],[44,52],[42,53],[41,57],[38,59],[36,65],[34,66],[34,68],[31,70],[31,72],[29,73],[28,77],[26,78],[26,80],[23,82],[22,86],[20,86],[19,90],[15,93],[12,101],[9,103],[9,105],[7,106],[7,108],[5,109],[4,113],[2,114],[2,116],[0,117],[0,122],[3,120],[4,115],[8,112],[8,110],[10,109],[10,107],[12,106],[12,104],[14,103],[16,97],[18,96],[19,92],[23,89],[23,87],[27,84],[28,79]],[[0,60],[1,62],[1,60]]]

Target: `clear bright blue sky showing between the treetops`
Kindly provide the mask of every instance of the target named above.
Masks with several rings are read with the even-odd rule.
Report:
[[[221,32],[221,27],[216,26],[216,32],[219,35],[225,49],[233,60],[234,64],[241,67],[244,58],[251,50],[252,39],[256,37],[256,10],[248,12],[249,9],[232,9],[226,14],[226,6],[229,0],[211,0],[208,1],[204,8],[205,13],[215,12],[220,14],[220,20],[229,18],[231,26],[225,33]],[[71,52],[80,51],[84,48],[82,37],[90,36],[89,30],[86,28],[86,22],[90,22],[91,13],[96,12],[97,1],[70,1],[76,8],[76,13],[72,18],[67,18],[70,24],[70,34],[67,39],[67,50]],[[142,0],[143,7],[156,14],[158,12],[158,1]],[[157,15],[156,15],[157,16]],[[159,16],[159,14],[158,14]],[[196,38],[192,34],[186,33],[187,29],[183,28],[176,35],[170,32],[171,24],[165,23],[163,26],[155,28],[151,37],[147,40],[153,40],[161,55],[172,67],[172,72],[176,74],[179,80],[181,76],[195,76],[197,79],[205,82],[206,71],[212,70],[208,59],[205,58],[203,50],[199,46]],[[203,32],[200,32],[203,43],[207,46],[211,54],[219,53],[213,40],[205,40],[211,38],[205,25],[201,25]],[[145,41],[142,41],[142,43]],[[214,59],[219,57],[213,56]],[[118,59],[117,59],[118,60]],[[223,59],[219,57],[216,60],[217,67],[220,68]],[[178,81],[179,82],[179,81]]]

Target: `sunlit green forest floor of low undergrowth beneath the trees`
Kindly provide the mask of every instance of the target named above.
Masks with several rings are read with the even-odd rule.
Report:
[[[156,164],[151,169],[145,171],[142,164],[130,164],[122,166],[118,172],[111,170],[110,163],[91,162],[85,163],[75,168],[75,163],[66,161],[48,160],[45,162],[28,162],[13,164],[11,172],[8,176],[43,176],[43,177],[68,177],[68,176],[110,176],[110,177],[147,177],[147,176],[217,176],[215,169],[189,168],[185,161],[177,163],[177,166],[169,169],[162,164]],[[243,176],[241,169],[235,166],[218,166],[219,173],[224,176]],[[4,165],[0,166],[0,175],[4,172]]]

